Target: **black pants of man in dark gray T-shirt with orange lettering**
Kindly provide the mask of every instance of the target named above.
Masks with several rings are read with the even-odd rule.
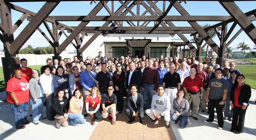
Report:
[[[220,105],[220,101],[222,101],[222,98],[220,99],[210,99],[208,102],[208,111],[209,111],[209,120],[214,120],[214,108],[216,108],[217,111],[217,118],[218,118],[218,125],[219,127],[223,128],[224,120],[223,120],[223,113],[222,113],[222,106]]]

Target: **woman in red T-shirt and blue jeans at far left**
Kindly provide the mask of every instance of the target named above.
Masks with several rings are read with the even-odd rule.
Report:
[[[7,82],[7,101],[10,102],[11,110],[14,114],[15,127],[24,129],[23,124],[30,124],[27,119],[29,109],[29,82],[22,78],[19,69],[13,71],[13,78]]]

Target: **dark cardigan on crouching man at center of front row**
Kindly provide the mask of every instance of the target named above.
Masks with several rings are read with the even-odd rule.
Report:
[[[133,101],[133,97],[132,97],[132,94],[128,95],[127,97],[127,108],[133,112],[133,111],[136,111],[137,113],[139,113],[140,111],[143,111],[143,97],[141,94],[137,93],[138,97],[137,97],[137,100],[136,100],[136,106],[135,106],[135,103]]]

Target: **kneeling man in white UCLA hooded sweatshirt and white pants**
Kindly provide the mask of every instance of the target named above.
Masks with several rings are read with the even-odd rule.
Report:
[[[158,85],[158,93],[152,98],[151,109],[147,109],[145,113],[153,119],[152,123],[163,116],[166,122],[166,128],[170,128],[170,111],[171,111],[171,101],[170,98],[164,93],[163,85]]]

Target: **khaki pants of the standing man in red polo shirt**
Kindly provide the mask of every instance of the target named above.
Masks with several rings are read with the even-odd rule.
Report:
[[[198,92],[196,95],[191,95],[191,94],[189,94],[189,95],[191,96],[190,100],[189,100],[190,96],[186,96],[186,99],[189,100],[188,101],[189,115],[191,114],[192,117],[197,117],[197,113],[198,113],[198,110],[199,110],[199,104],[200,104],[200,92]],[[192,108],[192,111],[190,113],[190,104],[191,104],[192,101],[193,101],[193,108]]]

